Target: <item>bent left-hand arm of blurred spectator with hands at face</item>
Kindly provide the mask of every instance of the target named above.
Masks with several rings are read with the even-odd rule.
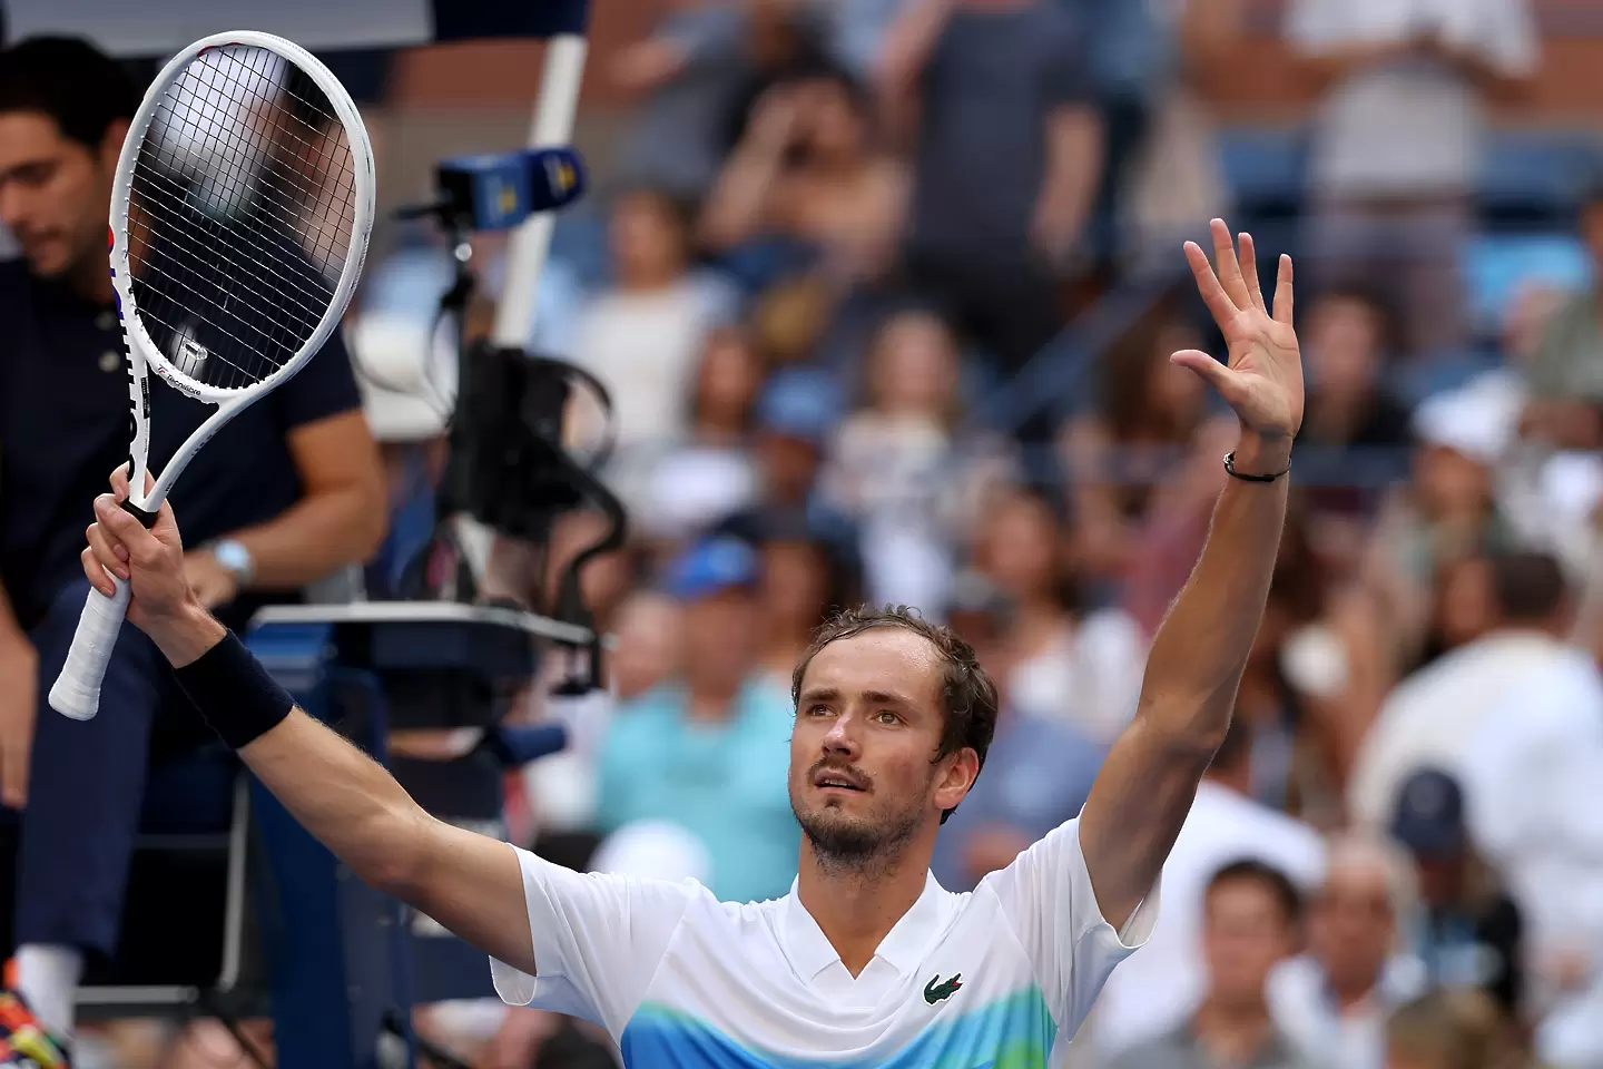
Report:
[[[734,248],[774,223],[776,208],[782,205],[776,194],[800,106],[795,87],[784,83],[757,101],[741,144],[729,154],[702,208],[701,237],[710,250]]]

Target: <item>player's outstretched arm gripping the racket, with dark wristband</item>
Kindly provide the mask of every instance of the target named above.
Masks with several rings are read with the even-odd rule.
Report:
[[[128,620],[160,646],[218,734],[367,885],[532,974],[534,942],[513,848],[436,821],[377,761],[290,708],[189,590],[172,508],[162,505],[146,530],[117,506],[127,476],[119,473],[112,484],[115,497],[95,502],[83,571],[101,593],[114,590],[107,571],[133,583]]]

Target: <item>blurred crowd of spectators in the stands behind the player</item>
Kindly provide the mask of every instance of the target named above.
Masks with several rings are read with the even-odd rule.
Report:
[[[542,45],[329,59],[385,213],[523,144]],[[859,599],[1002,688],[943,885],[1076,816],[1225,478],[1228,410],[1167,362],[1220,351],[1180,253],[1218,215],[1297,261],[1292,511],[1164,918],[1071,1064],[1603,1066],[1600,67],[1597,0],[596,5],[592,186],[529,346],[611,391],[630,527],[582,572],[611,696],[511,776],[510,833],[784,894],[790,670]],[[470,332],[502,252],[474,242]],[[452,264],[382,224],[348,321],[391,490],[369,598],[434,532],[444,413],[388,386]],[[561,516],[507,593],[601,526]],[[539,683],[511,713],[551,715]],[[1273,1050],[1212,1042],[1260,1003]],[[428,1027],[484,1066],[596,1053],[527,1010]]]

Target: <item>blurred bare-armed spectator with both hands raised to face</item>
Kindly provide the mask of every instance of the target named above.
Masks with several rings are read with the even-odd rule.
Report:
[[[835,285],[882,277],[901,234],[906,175],[872,135],[869,101],[842,72],[773,87],[707,199],[704,242],[728,252],[781,239]]]

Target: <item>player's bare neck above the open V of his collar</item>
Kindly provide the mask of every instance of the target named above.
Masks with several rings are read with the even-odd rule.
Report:
[[[802,840],[797,896],[853,976],[867,968],[885,936],[923,894],[931,853],[933,840],[912,841],[896,859],[842,870]]]

